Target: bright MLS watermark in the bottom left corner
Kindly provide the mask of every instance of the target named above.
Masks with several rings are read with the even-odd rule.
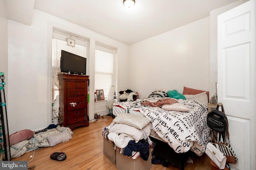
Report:
[[[28,170],[28,161],[0,161],[1,170]]]

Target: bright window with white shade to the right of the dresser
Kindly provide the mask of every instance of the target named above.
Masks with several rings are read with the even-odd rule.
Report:
[[[95,47],[95,90],[104,90],[108,99],[110,86],[114,85],[114,50],[100,45]]]

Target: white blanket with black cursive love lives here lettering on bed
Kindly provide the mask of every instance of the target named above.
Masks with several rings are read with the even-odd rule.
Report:
[[[154,131],[177,153],[192,150],[198,156],[205,152],[211,140],[207,126],[207,109],[195,100],[178,100],[188,112],[166,111],[160,107],[139,106],[140,112],[150,119]]]

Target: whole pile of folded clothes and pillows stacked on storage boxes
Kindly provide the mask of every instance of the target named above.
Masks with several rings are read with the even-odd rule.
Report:
[[[143,118],[147,119],[146,117],[131,115],[129,113],[121,113],[115,119],[120,119],[122,116],[138,117],[134,118],[137,120],[141,120]],[[143,126],[138,128],[134,127],[136,125],[132,125],[129,121],[116,123],[115,119],[108,127],[104,128],[102,136],[108,141],[113,142],[114,149],[121,154],[133,159],[140,156],[143,160],[148,160],[150,154],[149,149],[154,148],[152,141],[148,137],[151,133],[152,123],[148,121],[148,123],[144,123]],[[132,119],[130,122],[132,122]],[[136,124],[136,122],[134,124]]]

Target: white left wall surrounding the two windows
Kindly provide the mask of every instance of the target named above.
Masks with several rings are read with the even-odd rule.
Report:
[[[108,37],[61,20],[46,13],[34,10],[32,24],[24,25],[15,21],[8,21],[8,121],[9,132],[14,133],[22,129],[42,129],[49,124],[47,110],[47,55],[50,49],[48,23],[53,23],[63,29],[88,36],[94,41],[104,41],[118,47],[120,67],[120,88],[128,83],[127,56],[128,46]],[[92,50],[93,51],[93,50]],[[90,83],[91,85],[91,83]],[[51,101],[50,101],[51,102]],[[94,115],[94,113],[89,113]]]

